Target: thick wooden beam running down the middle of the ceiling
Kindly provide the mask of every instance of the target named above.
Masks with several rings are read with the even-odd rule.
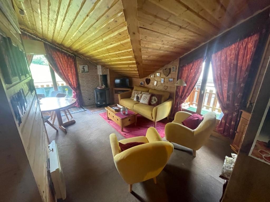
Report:
[[[127,22],[131,46],[134,53],[134,58],[137,64],[139,78],[143,78],[143,59],[141,56],[141,37],[138,21],[138,4],[137,0],[121,0],[124,15]]]

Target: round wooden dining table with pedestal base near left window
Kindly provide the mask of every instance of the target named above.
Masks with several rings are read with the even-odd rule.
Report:
[[[55,111],[59,128],[67,133],[65,127],[75,124],[75,120],[70,120],[63,123],[60,110],[63,110],[76,102],[75,98],[66,100],[65,97],[45,97],[39,100],[41,112]]]

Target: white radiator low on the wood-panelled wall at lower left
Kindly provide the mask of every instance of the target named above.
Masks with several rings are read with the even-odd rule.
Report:
[[[66,183],[55,141],[49,144],[50,174],[57,199],[66,198]]]

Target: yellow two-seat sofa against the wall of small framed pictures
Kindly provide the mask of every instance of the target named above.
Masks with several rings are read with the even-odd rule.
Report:
[[[168,116],[171,112],[171,107],[173,105],[173,99],[171,99],[171,98],[169,99],[169,96],[170,96],[169,92],[165,92],[162,90],[156,90],[156,89],[144,88],[141,86],[134,86],[133,90],[161,95],[160,105],[154,107],[151,105],[142,104],[138,101],[134,101],[134,100],[130,99],[132,91],[120,93],[118,95],[120,105],[125,106],[129,109],[132,109],[132,110],[136,111],[137,113],[139,113],[140,115],[144,116],[145,118],[147,118],[151,121],[154,121],[155,127],[156,127],[157,121],[160,121],[161,119],[164,119],[166,117],[168,118]]]

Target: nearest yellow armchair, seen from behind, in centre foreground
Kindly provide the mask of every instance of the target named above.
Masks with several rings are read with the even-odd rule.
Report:
[[[121,152],[116,135],[110,134],[114,164],[120,176],[129,184],[129,192],[132,191],[134,183],[153,178],[156,184],[156,176],[167,164],[173,153],[173,145],[170,142],[162,141],[156,128],[153,127],[148,128],[146,136],[127,138],[119,142],[122,144],[128,142],[147,143]]]

